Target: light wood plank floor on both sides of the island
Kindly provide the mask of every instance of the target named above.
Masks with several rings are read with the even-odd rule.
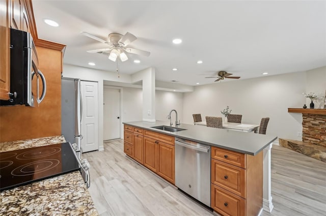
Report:
[[[216,215],[125,156],[123,140],[83,154],[100,215]],[[271,150],[274,209],[263,216],[326,215],[326,163],[281,146]]]

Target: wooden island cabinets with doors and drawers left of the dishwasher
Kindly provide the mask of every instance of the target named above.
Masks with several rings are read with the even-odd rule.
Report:
[[[173,136],[124,125],[124,152],[174,184]]]

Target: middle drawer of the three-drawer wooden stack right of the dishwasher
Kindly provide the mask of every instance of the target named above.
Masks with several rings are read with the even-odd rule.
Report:
[[[211,182],[238,196],[246,198],[246,170],[211,159]]]

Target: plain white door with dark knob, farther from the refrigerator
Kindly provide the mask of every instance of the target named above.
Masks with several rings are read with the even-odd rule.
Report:
[[[104,88],[103,140],[120,139],[120,89]]]

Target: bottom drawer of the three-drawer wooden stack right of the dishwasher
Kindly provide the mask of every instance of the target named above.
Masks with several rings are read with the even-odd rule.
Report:
[[[246,200],[236,196],[214,184],[211,184],[211,207],[220,214],[227,216],[244,216]]]

